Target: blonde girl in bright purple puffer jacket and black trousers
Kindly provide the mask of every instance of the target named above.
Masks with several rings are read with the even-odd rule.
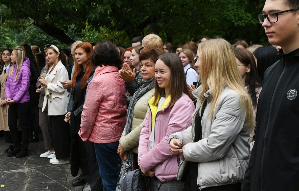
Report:
[[[8,108],[8,127],[13,138],[14,150],[7,153],[7,156],[21,158],[28,156],[29,132],[27,129],[29,112],[29,83],[30,83],[30,61],[25,58],[24,50],[15,48],[11,53],[13,65],[8,69],[7,82],[5,86],[6,104]],[[17,130],[17,120],[22,130],[22,147]]]

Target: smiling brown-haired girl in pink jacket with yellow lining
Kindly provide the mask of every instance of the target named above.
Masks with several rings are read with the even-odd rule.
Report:
[[[187,95],[184,69],[175,53],[158,58],[155,79],[155,94],[149,99],[150,111],[140,134],[138,163],[144,175],[153,177],[153,190],[183,190],[184,183],[176,180],[180,159],[170,152],[167,139],[191,126],[195,107]]]

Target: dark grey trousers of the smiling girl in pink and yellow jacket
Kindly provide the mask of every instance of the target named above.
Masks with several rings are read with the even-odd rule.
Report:
[[[158,179],[149,178],[151,191],[183,191],[184,182],[178,180],[161,182]]]

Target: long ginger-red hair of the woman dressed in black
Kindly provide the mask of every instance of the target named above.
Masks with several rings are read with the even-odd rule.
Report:
[[[89,53],[93,50],[93,47],[89,42],[82,42],[76,46],[76,49],[77,48],[82,48],[87,53],[87,55],[89,55]],[[86,72],[81,79],[81,85],[80,85],[81,89],[83,89],[87,86],[87,80],[89,79],[90,73],[93,68],[94,68],[94,64],[92,64],[91,59],[88,58],[88,60],[86,62]],[[82,64],[76,64],[73,79],[72,79],[72,87],[75,87],[76,78],[78,76],[78,73],[80,73],[82,71],[83,71]]]

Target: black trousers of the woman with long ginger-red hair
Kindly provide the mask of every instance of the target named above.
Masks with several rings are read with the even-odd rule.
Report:
[[[80,167],[83,174],[84,180],[89,184],[91,180],[91,174],[89,171],[89,165],[87,160],[86,146],[85,142],[82,141],[81,137],[78,135],[81,125],[81,117],[77,118],[74,113],[71,113],[71,166],[76,165],[76,169]],[[77,161],[76,161],[77,160]],[[76,162],[72,162],[76,161]],[[77,166],[78,165],[78,166]]]

